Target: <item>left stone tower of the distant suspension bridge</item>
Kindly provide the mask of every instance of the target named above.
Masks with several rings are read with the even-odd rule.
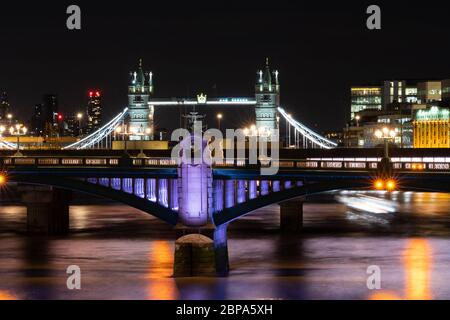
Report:
[[[128,130],[130,140],[150,140],[153,137],[153,106],[149,106],[153,93],[153,74],[144,71],[139,59],[137,71],[130,72],[128,86]]]

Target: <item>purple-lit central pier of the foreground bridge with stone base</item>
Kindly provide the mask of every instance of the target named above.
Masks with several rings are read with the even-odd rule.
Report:
[[[245,201],[245,182],[235,180],[214,183],[210,161],[192,162],[193,152],[204,157],[206,141],[201,136],[183,140],[181,162],[178,166],[177,194],[178,219],[175,227],[175,277],[226,275],[228,273],[228,247],[226,226],[216,227],[212,215],[223,207],[232,207],[236,200]],[[193,148],[193,150],[192,150]],[[198,160],[198,159],[197,159]],[[224,195],[222,191],[225,190]],[[214,202],[214,198],[219,199]]]

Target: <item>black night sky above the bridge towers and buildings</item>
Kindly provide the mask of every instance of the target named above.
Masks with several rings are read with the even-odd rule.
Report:
[[[10,2],[0,11],[0,90],[26,119],[44,93],[58,94],[64,112],[84,109],[91,87],[102,90],[112,117],[126,105],[139,57],[154,72],[155,97],[194,97],[252,96],[267,56],[280,71],[282,105],[318,130],[344,126],[352,83],[450,78],[445,2]],[[379,31],[365,26],[373,3],[382,10]],[[81,7],[81,31],[66,29],[70,4]],[[227,127],[253,114],[208,113],[219,111]],[[174,108],[156,117],[160,127],[178,124]]]

